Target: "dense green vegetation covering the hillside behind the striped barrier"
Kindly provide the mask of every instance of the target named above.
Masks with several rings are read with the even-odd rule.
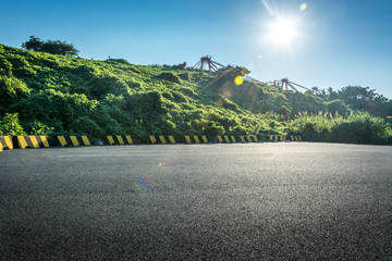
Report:
[[[358,86],[321,95],[234,78],[228,66],[85,60],[0,45],[0,135],[303,135],[308,140],[391,144],[392,101]],[[360,112],[366,110],[367,112]]]

